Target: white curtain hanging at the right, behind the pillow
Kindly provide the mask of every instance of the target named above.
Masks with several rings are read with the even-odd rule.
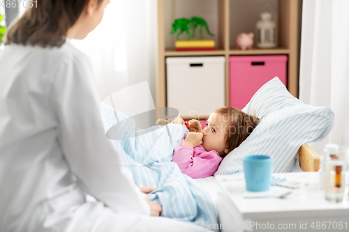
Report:
[[[304,0],[299,99],[334,111],[324,141],[310,144],[319,154],[327,143],[349,146],[349,1]]]

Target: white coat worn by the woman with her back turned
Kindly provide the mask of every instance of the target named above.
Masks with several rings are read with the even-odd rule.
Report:
[[[64,231],[104,210],[149,215],[144,195],[105,137],[87,57],[60,48],[0,51],[0,231]],[[81,211],[81,210],[80,210]],[[88,221],[87,221],[88,222]],[[45,230],[47,229],[47,230]]]

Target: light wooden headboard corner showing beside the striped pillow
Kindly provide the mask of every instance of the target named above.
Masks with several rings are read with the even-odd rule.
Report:
[[[299,150],[299,166],[302,171],[318,171],[320,157],[308,144],[303,144]]]

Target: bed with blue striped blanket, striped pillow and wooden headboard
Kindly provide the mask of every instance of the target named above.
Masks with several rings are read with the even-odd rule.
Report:
[[[173,150],[186,134],[184,125],[135,130],[135,123],[102,103],[103,125],[138,186],[157,187],[149,199],[163,207],[161,216],[200,226],[218,223],[214,176],[193,179],[172,162]],[[318,155],[307,145],[327,137],[334,114],[329,107],[312,107],[288,93],[279,78],[267,82],[243,109],[260,123],[221,162],[215,175],[243,173],[242,157],[274,157],[274,172],[316,171]]]

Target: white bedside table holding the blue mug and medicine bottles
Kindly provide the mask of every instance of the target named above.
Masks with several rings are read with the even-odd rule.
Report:
[[[245,180],[216,176],[221,231],[349,231],[348,196],[341,203],[325,200],[319,190],[319,173],[273,173],[276,178],[308,185],[285,198],[245,199]]]

